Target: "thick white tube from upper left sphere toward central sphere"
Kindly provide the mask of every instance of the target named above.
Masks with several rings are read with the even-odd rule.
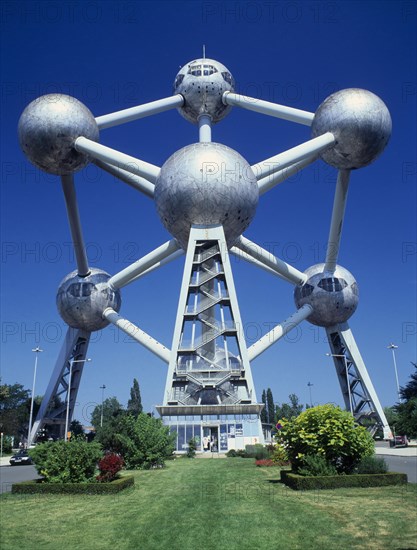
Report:
[[[131,157],[130,155],[126,155],[125,153],[121,153],[120,151],[116,151],[115,149],[111,149],[110,147],[106,147],[105,145],[101,145],[85,137],[77,138],[74,146],[77,151],[86,153],[103,162],[114,164],[118,168],[127,170],[137,176],[142,176],[152,183],[155,183],[161,170],[159,166]]]

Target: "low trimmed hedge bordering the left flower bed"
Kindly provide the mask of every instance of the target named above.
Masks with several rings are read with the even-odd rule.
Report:
[[[12,485],[12,493],[20,495],[83,494],[109,495],[123,491],[134,484],[133,476],[123,476],[108,483],[46,483],[42,480],[22,481]]]

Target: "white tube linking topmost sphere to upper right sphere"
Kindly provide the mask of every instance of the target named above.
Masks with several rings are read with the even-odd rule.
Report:
[[[290,120],[291,122],[304,124],[305,126],[311,126],[314,118],[314,113],[309,113],[308,111],[294,109],[293,107],[287,107],[286,105],[279,105],[278,103],[271,103],[270,101],[255,99],[253,97],[243,96],[233,92],[224,92],[223,103],[225,105],[243,107],[243,109],[255,111],[263,115]]]

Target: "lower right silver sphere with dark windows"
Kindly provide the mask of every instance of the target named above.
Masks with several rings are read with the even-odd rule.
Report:
[[[303,285],[295,287],[297,308],[309,304],[313,312],[307,321],[319,327],[330,327],[346,322],[356,311],[359,289],[353,275],[338,265],[336,270],[324,271],[325,264],[308,268]]]

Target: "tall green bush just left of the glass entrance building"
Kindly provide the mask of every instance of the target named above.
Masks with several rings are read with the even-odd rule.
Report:
[[[96,436],[106,451],[123,457],[128,470],[163,466],[174,451],[174,438],[161,419],[144,413],[115,416]]]

